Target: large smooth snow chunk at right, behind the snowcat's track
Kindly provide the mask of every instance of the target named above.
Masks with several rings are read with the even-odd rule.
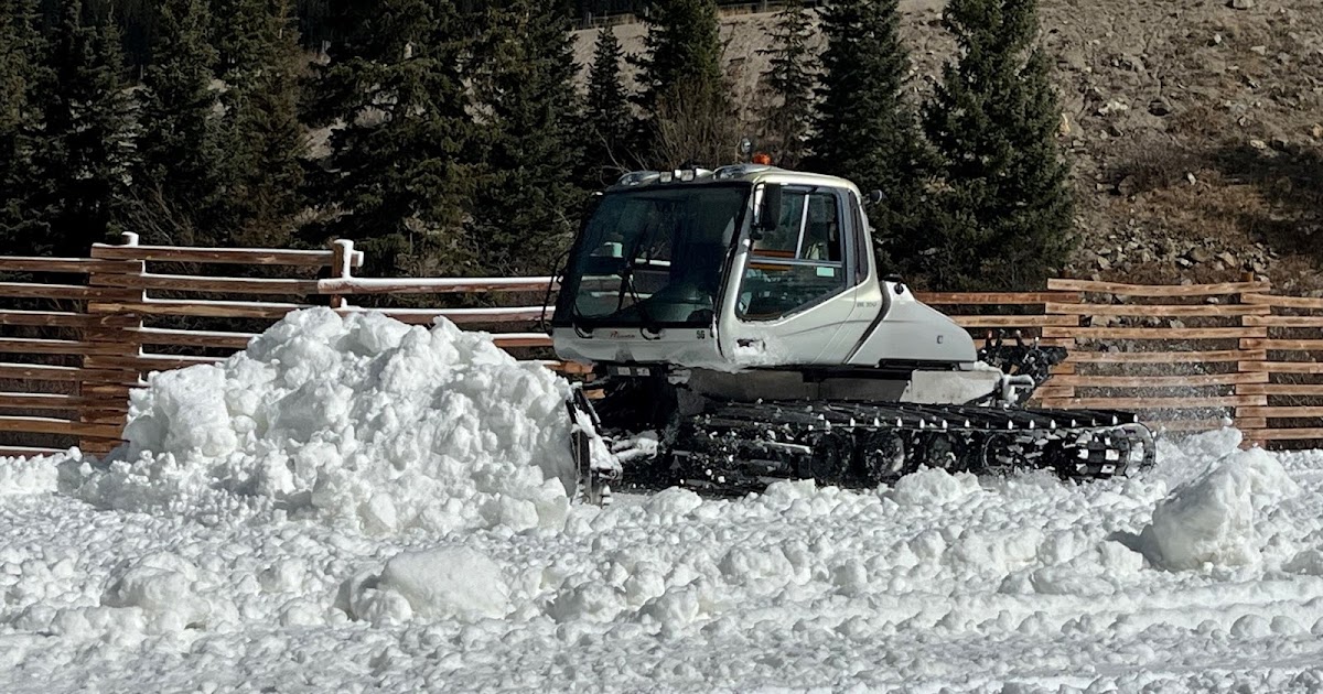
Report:
[[[1166,568],[1242,566],[1259,559],[1256,513],[1298,493],[1262,448],[1234,451],[1158,504],[1142,538]]]

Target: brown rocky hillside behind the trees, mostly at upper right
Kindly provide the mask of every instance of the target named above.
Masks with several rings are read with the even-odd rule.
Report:
[[[916,95],[951,54],[942,4],[901,1]],[[1323,3],[1041,0],[1041,11],[1080,192],[1070,275],[1215,282],[1253,271],[1323,289]],[[771,24],[725,20],[746,104]],[[643,26],[615,32],[627,52],[643,49]],[[581,32],[581,62],[595,37]]]

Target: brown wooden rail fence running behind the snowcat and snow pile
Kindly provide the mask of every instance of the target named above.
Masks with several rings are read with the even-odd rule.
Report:
[[[446,295],[447,308],[382,308],[413,324],[445,316],[553,367],[533,327],[550,278],[357,278],[349,242],[328,250],[97,245],[90,258],[0,258],[0,455],[119,443],[128,393],[155,370],[243,349],[290,311],[374,311],[377,295]],[[217,275],[216,266],[242,267]],[[474,297],[487,301],[474,305]],[[1234,423],[1277,445],[1323,445],[1323,299],[1267,282],[1130,286],[1050,280],[1041,292],[918,293],[982,336],[1021,332],[1070,356],[1039,405],[1125,408],[1168,431]],[[438,303],[434,297],[433,304]],[[467,304],[467,305],[464,305]]]

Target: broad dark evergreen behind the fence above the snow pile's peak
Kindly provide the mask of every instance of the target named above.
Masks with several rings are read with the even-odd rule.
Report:
[[[336,127],[327,169],[310,181],[323,208],[304,237],[359,241],[376,272],[471,270],[460,223],[472,136],[455,9],[448,0],[343,9],[343,38],[310,85],[308,120]]]

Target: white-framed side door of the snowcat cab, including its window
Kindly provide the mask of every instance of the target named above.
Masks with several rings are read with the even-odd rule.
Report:
[[[836,188],[783,189],[775,227],[750,234],[736,258],[738,284],[721,330],[728,358],[746,366],[841,364],[831,348],[857,342],[872,319],[856,311],[868,259],[853,239],[851,200]]]

